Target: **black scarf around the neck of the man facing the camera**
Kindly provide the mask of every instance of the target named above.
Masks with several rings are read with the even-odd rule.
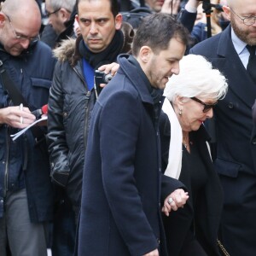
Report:
[[[111,43],[108,47],[100,53],[93,53],[90,49],[84,45],[84,40],[81,40],[79,43],[79,52],[80,55],[84,57],[86,61],[89,62],[90,66],[94,69],[101,67],[104,64],[110,64],[113,61],[116,61],[117,56],[120,53],[124,44],[124,35],[121,31],[117,30],[113,36]]]

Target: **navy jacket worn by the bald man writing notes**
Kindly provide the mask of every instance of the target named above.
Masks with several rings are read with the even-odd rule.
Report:
[[[55,67],[49,46],[38,42],[17,57],[0,49],[0,59],[31,111],[47,104]],[[0,81],[0,108],[11,105],[9,94]],[[8,125],[0,126],[0,218],[4,214],[4,195],[8,186],[10,191],[26,187],[32,222],[49,220],[53,217],[53,191],[46,143],[44,141],[38,147],[31,129],[13,142],[9,135],[17,131]],[[42,134],[45,131],[45,127],[42,127]]]

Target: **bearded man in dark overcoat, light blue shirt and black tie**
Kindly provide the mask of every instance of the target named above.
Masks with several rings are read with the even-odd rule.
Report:
[[[253,256],[256,252],[256,134],[252,138],[252,106],[256,83],[247,70],[250,55],[247,44],[256,45],[256,3],[229,0],[223,9],[230,18],[230,26],[196,44],[190,53],[206,56],[229,81],[228,94],[214,112],[215,166],[224,189],[220,238],[230,255]]]

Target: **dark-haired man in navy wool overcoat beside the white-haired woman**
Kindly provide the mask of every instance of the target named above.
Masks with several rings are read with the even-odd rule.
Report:
[[[80,256],[166,255],[160,217],[160,98],[168,78],[179,72],[188,40],[170,15],[148,15],[135,35],[133,56],[119,55],[118,73],[102,90],[91,119]],[[168,215],[188,195],[178,189],[177,180],[166,178],[172,188],[162,201],[179,198],[162,209]]]

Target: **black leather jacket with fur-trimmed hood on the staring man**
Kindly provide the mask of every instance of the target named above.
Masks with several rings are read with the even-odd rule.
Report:
[[[125,43],[121,52],[130,50],[131,26],[123,26]],[[67,176],[67,195],[80,206],[84,151],[90,127],[90,113],[96,96],[84,79],[79,42],[67,39],[55,49],[58,62],[49,93],[48,143],[52,172]]]

